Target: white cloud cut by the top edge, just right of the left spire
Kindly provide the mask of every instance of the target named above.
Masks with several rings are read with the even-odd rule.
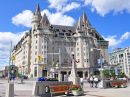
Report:
[[[63,6],[65,6],[68,0],[48,0],[50,5],[49,8],[55,8],[57,11],[60,11]]]

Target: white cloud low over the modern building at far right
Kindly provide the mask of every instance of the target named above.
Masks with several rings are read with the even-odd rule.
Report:
[[[105,37],[104,37],[105,38]],[[130,32],[124,33],[120,39],[116,39],[117,36],[108,36],[105,38],[105,40],[109,41],[109,48],[115,49],[117,46],[119,46],[123,41],[130,38]]]

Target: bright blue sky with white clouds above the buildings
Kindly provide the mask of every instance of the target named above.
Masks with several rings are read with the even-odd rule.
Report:
[[[0,68],[8,65],[13,46],[31,27],[37,3],[50,23],[73,25],[85,11],[92,27],[109,41],[109,52],[130,46],[130,0],[1,0]]]

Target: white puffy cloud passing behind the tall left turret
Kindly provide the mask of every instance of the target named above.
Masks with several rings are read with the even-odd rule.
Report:
[[[41,12],[42,16],[44,13],[46,13],[46,15],[48,16],[48,19],[51,24],[72,26],[75,22],[75,20],[72,17],[64,15],[61,12],[50,13],[47,9],[45,9]],[[22,13],[19,13],[18,15],[13,17],[12,23],[15,25],[31,27],[31,19],[32,12],[29,10],[25,10]]]

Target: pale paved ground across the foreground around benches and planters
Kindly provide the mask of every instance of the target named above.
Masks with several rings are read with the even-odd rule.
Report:
[[[20,80],[15,80],[14,82],[15,97],[30,97],[32,94],[34,81],[36,81],[36,79],[25,80],[24,84],[20,84]],[[0,97],[5,97],[7,82],[8,82],[7,80],[0,79]],[[85,82],[84,91],[85,95],[80,97],[130,97],[130,83],[128,83],[127,88],[99,89],[99,88],[90,88],[89,83]],[[63,97],[65,96],[66,95],[63,95]]]

